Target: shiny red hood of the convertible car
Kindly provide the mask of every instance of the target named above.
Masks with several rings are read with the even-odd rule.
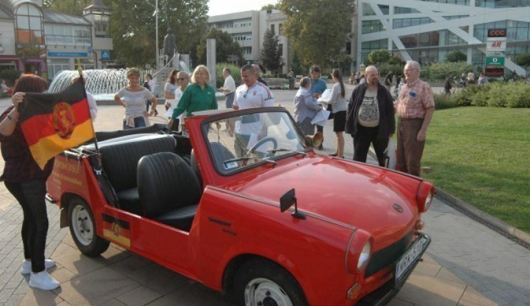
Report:
[[[371,233],[376,243],[386,244],[386,238],[395,241],[396,235],[407,234],[418,218],[415,195],[420,182],[378,167],[327,156],[306,156],[229,188],[274,203],[295,188],[302,212],[353,225]]]

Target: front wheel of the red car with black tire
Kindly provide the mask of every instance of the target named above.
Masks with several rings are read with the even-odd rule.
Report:
[[[309,305],[296,279],[277,263],[253,260],[244,263],[234,276],[230,298],[235,305]]]

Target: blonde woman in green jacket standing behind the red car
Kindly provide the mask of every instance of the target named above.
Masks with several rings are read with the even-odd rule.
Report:
[[[217,99],[215,99],[215,89],[208,85],[210,72],[205,65],[198,65],[191,74],[191,83],[186,87],[180,98],[177,108],[173,110],[173,116],[169,121],[169,126],[173,126],[173,120],[180,114],[186,112],[186,116],[191,116],[192,112],[201,110],[217,110]]]

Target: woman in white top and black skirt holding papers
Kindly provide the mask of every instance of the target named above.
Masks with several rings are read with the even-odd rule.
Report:
[[[333,90],[331,90],[331,97],[324,99],[322,102],[331,105],[331,112],[333,113],[333,132],[337,135],[337,149],[335,153],[330,156],[339,156],[344,158],[344,126],[346,125],[346,110],[348,103],[346,103],[346,89],[342,81],[342,73],[340,70],[334,69],[331,72],[333,77]]]

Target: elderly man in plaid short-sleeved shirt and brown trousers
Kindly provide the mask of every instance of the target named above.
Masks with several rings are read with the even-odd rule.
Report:
[[[420,161],[427,128],[433,118],[434,96],[431,86],[420,80],[421,66],[407,61],[404,69],[406,85],[395,105],[397,121],[397,170],[420,176]]]

